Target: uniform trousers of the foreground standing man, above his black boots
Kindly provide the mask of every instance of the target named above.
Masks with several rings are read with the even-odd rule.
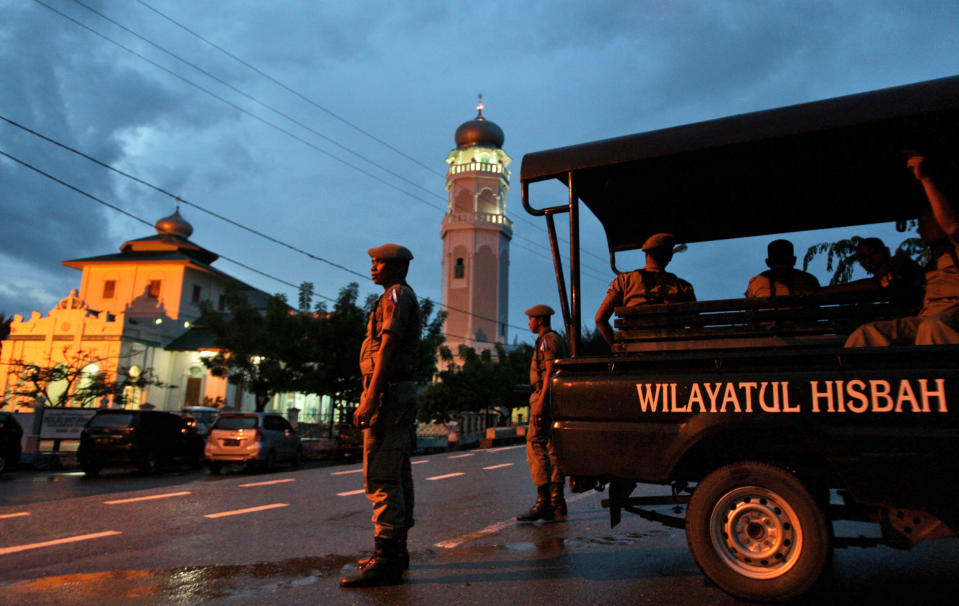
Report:
[[[416,385],[390,383],[379,417],[363,430],[363,483],[373,506],[373,536],[401,539],[413,526]]]

